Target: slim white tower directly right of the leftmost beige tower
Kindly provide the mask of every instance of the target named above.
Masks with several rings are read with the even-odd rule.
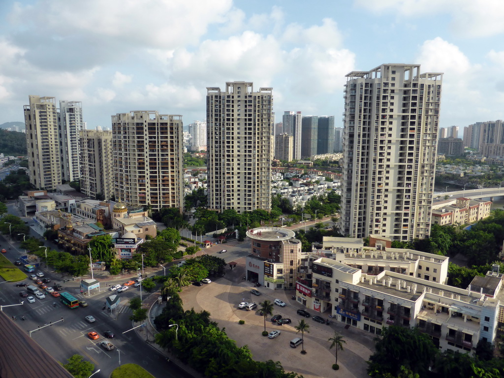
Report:
[[[59,101],[58,129],[62,179],[79,180],[79,133],[84,130],[81,102]]]

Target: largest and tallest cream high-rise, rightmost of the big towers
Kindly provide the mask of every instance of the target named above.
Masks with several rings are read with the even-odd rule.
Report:
[[[429,235],[442,76],[401,64],[346,75],[343,234]]]

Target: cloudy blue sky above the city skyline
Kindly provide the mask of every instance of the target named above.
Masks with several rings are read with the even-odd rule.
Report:
[[[351,71],[442,72],[440,126],[502,119],[502,0],[2,0],[0,123],[28,95],[81,101],[88,129],[132,110],[206,117],[206,87],[272,87],[284,111],[334,115]],[[461,136],[459,136],[461,137]]]

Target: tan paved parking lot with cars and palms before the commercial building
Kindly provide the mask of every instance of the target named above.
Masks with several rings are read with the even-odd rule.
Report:
[[[219,324],[220,328],[226,328],[227,335],[236,341],[238,346],[248,345],[254,359],[266,361],[280,361],[286,371],[294,371],[305,377],[329,377],[334,376],[332,364],[335,362],[335,349],[329,350],[334,331],[338,331],[345,337],[344,350],[338,352],[339,376],[364,377],[366,376],[366,360],[374,350],[373,335],[344,325],[333,322],[331,325],[314,322],[311,318],[304,318],[296,313],[298,308],[303,308],[299,303],[291,299],[293,291],[272,291],[263,287],[256,288],[262,294],[252,295],[253,289],[249,282],[242,280],[244,259],[237,260],[235,269],[226,271],[226,276],[210,284],[201,287],[191,286],[184,289],[180,294],[184,308],[196,311],[205,309],[211,313],[211,319]],[[262,335],[264,320],[259,314],[259,303],[265,299],[273,302],[276,298],[286,303],[285,307],[274,305],[273,314],[280,314],[283,318],[290,318],[291,324],[278,326],[267,318],[266,330],[278,330],[281,334],[270,339]],[[258,307],[247,311],[238,308],[242,301],[256,302]],[[308,310],[309,311],[309,310]],[[316,315],[315,311],[309,311]],[[327,314],[322,314],[327,318]],[[301,346],[291,348],[290,340],[300,337],[296,334],[294,326],[304,319],[310,326],[309,333],[304,334],[305,355],[301,354]],[[239,320],[245,321],[240,325]]]

